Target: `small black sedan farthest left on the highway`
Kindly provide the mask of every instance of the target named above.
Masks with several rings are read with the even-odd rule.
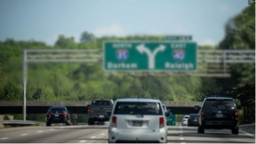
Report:
[[[51,126],[52,123],[65,123],[70,125],[70,115],[67,107],[53,106],[47,110],[46,126]]]

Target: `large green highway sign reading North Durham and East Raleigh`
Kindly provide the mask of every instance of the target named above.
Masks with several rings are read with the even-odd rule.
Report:
[[[194,42],[105,42],[103,68],[108,71],[195,71]]]

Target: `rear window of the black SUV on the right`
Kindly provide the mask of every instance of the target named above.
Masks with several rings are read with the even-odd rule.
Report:
[[[235,109],[235,101],[232,99],[208,99],[203,108],[210,109]]]

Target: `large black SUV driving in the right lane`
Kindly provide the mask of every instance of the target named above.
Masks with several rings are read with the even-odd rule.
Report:
[[[239,118],[235,100],[225,97],[205,98],[199,109],[198,133],[204,129],[230,129],[233,134],[238,134]]]

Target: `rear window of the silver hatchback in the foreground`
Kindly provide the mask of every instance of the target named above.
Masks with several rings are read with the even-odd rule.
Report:
[[[162,115],[160,103],[157,102],[117,102],[114,114],[118,115]]]

